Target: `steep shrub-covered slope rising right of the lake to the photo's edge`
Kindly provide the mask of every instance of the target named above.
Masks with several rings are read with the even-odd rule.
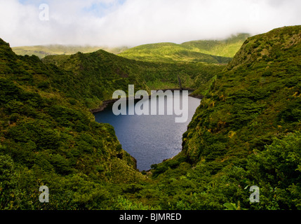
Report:
[[[174,208],[301,209],[300,62],[301,26],[243,43],[201,101],[182,152],[153,166],[157,179],[183,186]]]

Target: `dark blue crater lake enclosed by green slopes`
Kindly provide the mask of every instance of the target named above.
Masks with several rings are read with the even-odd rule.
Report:
[[[178,97],[182,100],[182,94]],[[174,102],[178,99],[175,96],[173,98]],[[168,105],[168,100],[170,99],[165,97],[165,106]],[[147,99],[146,101],[149,103],[150,111],[151,100]],[[137,168],[140,171],[148,170],[151,165],[180,153],[182,134],[187,131],[187,125],[200,102],[200,99],[188,97],[188,119],[185,123],[175,123],[175,117],[181,116],[166,115],[166,113],[165,115],[149,116],[136,114],[115,116],[112,106],[95,113],[95,120],[98,123],[112,125],[122,148],[137,160]],[[182,101],[180,101],[180,105],[184,105]],[[184,108],[181,107],[181,109]]]

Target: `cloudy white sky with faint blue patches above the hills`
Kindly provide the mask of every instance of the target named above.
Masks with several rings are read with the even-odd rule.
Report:
[[[300,0],[0,0],[0,38],[21,45],[135,46],[301,25]]]

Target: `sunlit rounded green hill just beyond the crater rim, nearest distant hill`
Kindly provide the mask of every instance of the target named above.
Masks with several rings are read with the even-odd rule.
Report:
[[[230,57],[207,55],[176,43],[152,43],[130,48],[119,54],[121,57],[145,62],[206,62],[227,64]]]

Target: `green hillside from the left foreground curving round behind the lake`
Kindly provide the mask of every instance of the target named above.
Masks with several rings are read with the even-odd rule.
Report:
[[[179,76],[186,87],[223,68],[135,62],[104,50],[41,61],[0,40],[0,209],[160,209],[127,197],[140,184],[151,190],[152,181],[89,109],[129,83],[179,87]],[[48,204],[36,200],[43,185]]]

